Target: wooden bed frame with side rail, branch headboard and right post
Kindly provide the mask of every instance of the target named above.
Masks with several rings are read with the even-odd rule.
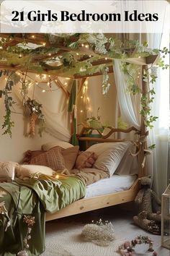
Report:
[[[148,64],[153,63],[156,61],[156,57],[153,58],[151,61],[147,61],[147,58],[143,60],[143,62],[138,63],[142,66],[142,74],[143,74],[143,69],[148,69]],[[134,63],[135,61],[132,60]],[[142,93],[141,96],[146,95],[148,92],[148,83],[145,81],[142,81]],[[81,130],[80,135],[78,135],[79,140],[84,140],[86,142],[88,141],[96,141],[96,142],[117,142],[117,141],[125,141],[125,140],[114,140],[114,139],[109,139],[109,136],[112,135],[114,132],[131,132],[135,131],[139,137],[138,140],[134,141],[138,153],[138,179],[135,181],[135,183],[130,187],[128,190],[124,190],[122,192],[117,192],[114,194],[109,194],[109,195],[102,195],[98,197],[89,197],[89,198],[84,198],[81,200],[77,200],[76,202],[71,203],[71,205],[66,206],[66,208],[63,208],[59,210],[57,213],[50,214],[46,213],[45,219],[46,221],[51,221],[54,219],[58,218],[63,218],[66,216],[71,216],[71,215],[76,215],[79,213],[84,213],[90,210],[97,210],[99,208],[105,208],[108,206],[112,205],[118,205],[124,202],[131,202],[135,199],[135,196],[137,195],[139,189],[140,189],[140,184],[139,180],[140,177],[146,175],[146,136],[148,135],[148,131],[146,130],[146,125],[144,123],[143,116],[141,116],[141,121],[140,121],[140,130],[136,129],[135,127],[130,127],[129,129],[115,129],[112,127],[110,128],[110,132],[103,136],[99,130],[99,134],[102,136],[101,138],[91,138],[91,137],[81,137],[83,135],[84,131],[86,129],[91,129],[91,127],[83,127]]]

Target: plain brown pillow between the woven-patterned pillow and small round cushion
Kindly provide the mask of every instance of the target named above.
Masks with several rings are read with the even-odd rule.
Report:
[[[79,146],[62,149],[61,153],[63,155],[66,168],[68,169],[68,171],[71,171],[76,163],[76,158],[79,153]]]

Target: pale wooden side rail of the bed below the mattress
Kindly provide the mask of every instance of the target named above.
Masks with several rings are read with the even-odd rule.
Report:
[[[131,202],[135,199],[139,190],[138,180],[133,184],[133,186],[125,191],[117,192],[114,194],[101,195],[99,197],[89,197],[78,200],[71,203],[71,205],[66,206],[59,210],[57,213],[50,214],[46,213],[46,221],[51,221],[57,218],[63,218],[66,216],[71,216],[79,213],[85,213],[89,210],[97,210],[100,208],[105,208],[112,205],[118,205],[124,202]]]

